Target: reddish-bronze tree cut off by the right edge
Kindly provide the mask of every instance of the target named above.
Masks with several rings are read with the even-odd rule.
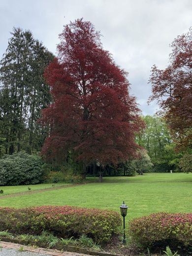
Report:
[[[168,67],[152,67],[150,100],[159,100],[177,149],[186,150],[192,148],[192,28],[171,46]]]

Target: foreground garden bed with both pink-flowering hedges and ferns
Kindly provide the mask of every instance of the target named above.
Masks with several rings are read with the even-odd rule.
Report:
[[[127,246],[119,237],[121,224],[120,214],[109,210],[72,206],[0,208],[2,241],[85,254],[91,254],[91,250],[92,255],[107,252],[136,256],[147,250],[162,254],[168,245],[181,256],[191,254],[192,213],[154,213],[133,219],[127,229]]]

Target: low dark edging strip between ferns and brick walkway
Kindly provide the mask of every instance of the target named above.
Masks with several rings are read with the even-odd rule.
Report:
[[[2,236],[2,237],[0,236],[0,241],[21,244],[21,245],[38,246],[38,247],[47,249],[47,244],[39,243],[39,242],[35,242],[35,241],[18,240],[18,239],[8,238],[8,237],[4,237],[4,236]],[[71,245],[64,246],[64,245],[58,244],[58,245],[55,245],[54,248],[52,248],[52,249],[57,249],[60,251],[64,250],[65,252],[89,254],[89,255],[94,255],[94,256],[119,256],[117,254],[111,254],[111,253],[107,253],[107,252],[96,252],[96,251],[92,251],[92,250],[84,248],[84,247],[71,246]]]

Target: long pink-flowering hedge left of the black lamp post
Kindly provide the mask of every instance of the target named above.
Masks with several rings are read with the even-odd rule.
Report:
[[[0,230],[18,234],[38,235],[42,230],[63,238],[84,234],[102,243],[117,233],[120,224],[120,215],[108,210],[73,206],[0,208]]]

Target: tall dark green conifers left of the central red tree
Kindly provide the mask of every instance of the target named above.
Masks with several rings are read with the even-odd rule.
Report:
[[[51,60],[53,55],[32,37],[32,32],[13,29],[0,62],[0,136],[5,138],[5,154],[40,150],[45,129],[36,120],[51,102],[43,78]]]

